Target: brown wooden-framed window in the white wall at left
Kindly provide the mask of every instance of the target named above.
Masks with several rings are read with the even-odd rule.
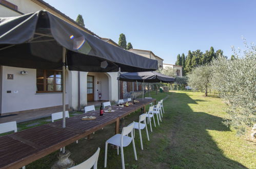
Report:
[[[36,70],[36,93],[62,92],[62,71]]]

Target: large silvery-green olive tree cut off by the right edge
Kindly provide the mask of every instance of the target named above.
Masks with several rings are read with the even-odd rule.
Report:
[[[243,134],[256,123],[256,47],[234,51],[235,59],[218,57],[211,62],[211,85],[228,104],[226,125]]]

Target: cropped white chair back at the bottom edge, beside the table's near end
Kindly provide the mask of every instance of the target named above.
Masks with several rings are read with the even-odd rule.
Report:
[[[100,147],[98,150],[86,161],[71,167],[72,169],[90,169],[93,166],[93,169],[97,169],[97,162],[99,159],[99,154],[100,154]]]

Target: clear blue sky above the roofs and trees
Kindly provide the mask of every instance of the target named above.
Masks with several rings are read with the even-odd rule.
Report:
[[[72,19],[82,14],[85,27],[118,43],[126,35],[134,49],[151,50],[174,64],[188,50],[243,49],[256,43],[256,1],[45,0]]]

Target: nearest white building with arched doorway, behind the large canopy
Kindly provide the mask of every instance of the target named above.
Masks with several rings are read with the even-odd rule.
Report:
[[[47,10],[66,22],[89,34],[90,30],[56,10],[42,0],[1,0],[0,17],[19,16],[38,10]],[[99,36],[97,36],[99,37]],[[101,37],[99,37],[101,38]],[[114,44],[111,39],[102,38]],[[21,71],[28,74],[22,75]],[[62,72],[1,66],[0,69],[0,114],[41,110],[62,105]],[[67,71],[66,104],[75,110],[88,101],[117,100],[117,73],[93,73]],[[101,98],[99,97],[101,93]]]

